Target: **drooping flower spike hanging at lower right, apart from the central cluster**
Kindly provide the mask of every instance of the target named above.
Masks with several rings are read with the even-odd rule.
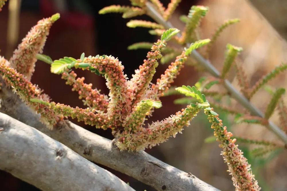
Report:
[[[213,110],[213,109],[212,109]],[[257,180],[251,172],[251,165],[248,164],[247,159],[243,156],[243,152],[238,149],[235,144],[236,139],[231,139],[232,133],[222,126],[222,120],[217,116],[210,114],[208,110],[204,110],[208,115],[208,120],[212,123],[211,128],[214,129],[214,136],[216,141],[221,144],[219,147],[223,149],[221,152],[224,162],[228,165],[228,172],[230,172],[233,180],[233,185],[237,191],[258,191],[261,188],[258,186]]]

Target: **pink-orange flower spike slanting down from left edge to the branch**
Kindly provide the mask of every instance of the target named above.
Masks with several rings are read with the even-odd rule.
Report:
[[[49,102],[49,97],[46,94],[41,94],[42,91],[27,80],[23,74],[10,68],[9,62],[2,57],[0,57],[0,74],[3,80],[13,88],[13,91],[17,93],[25,103],[37,113],[41,114],[41,120],[50,128],[53,127],[51,125],[55,125],[59,120],[63,119],[62,114],[55,114],[48,106],[30,102],[30,99],[39,99]]]

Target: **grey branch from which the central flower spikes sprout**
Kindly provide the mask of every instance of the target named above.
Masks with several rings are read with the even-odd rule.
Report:
[[[218,190],[144,151],[120,152],[111,140],[69,121],[62,121],[53,130],[49,130],[39,121],[40,116],[22,103],[4,84],[0,92],[1,112],[42,131],[92,162],[125,173],[157,190]]]

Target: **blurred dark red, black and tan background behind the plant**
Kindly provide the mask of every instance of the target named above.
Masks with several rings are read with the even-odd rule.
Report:
[[[13,0],[10,1],[10,3]],[[166,6],[170,0],[162,0]],[[13,31],[7,31],[9,19],[9,1],[0,13],[0,54],[9,58],[13,50],[25,37],[27,32],[38,20],[49,17],[54,13],[61,13],[59,19],[51,28],[43,54],[51,56],[53,60],[71,56],[79,58],[82,52],[86,55],[107,54],[118,57],[125,66],[125,74],[131,77],[134,70],[143,63],[146,58],[146,50],[127,50],[127,46],[135,42],[155,42],[157,39],[148,33],[148,29],[126,27],[129,19],[123,19],[120,14],[99,15],[98,11],[112,4],[130,5],[128,0],[22,0],[19,6],[19,15],[13,20]],[[285,0],[182,0],[179,8],[171,18],[175,27],[183,29],[184,24],[179,22],[180,15],[187,15],[192,5],[205,5],[209,7],[207,16],[203,19],[200,29],[201,39],[210,38],[215,29],[226,19],[240,18],[241,22],[228,27],[219,38],[211,52],[210,60],[219,70],[224,60],[224,51],[227,43],[243,47],[240,60],[245,68],[247,78],[253,85],[261,76],[273,70],[276,65],[287,61],[287,1]],[[14,5],[15,6],[15,5]],[[13,10],[17,10],[14,7]],[[13,11],[10,11],[10,13]],[[147,16],[139,19],[151,20]],[[151,20],[152,21],[152,20]],[[168,65],[160,65],[154,77],[164,72]],[[234,86],[238,86],[234,80],[234,71],[231,71],[229,80]],[[79,77],[84,76],[86,83],[92,83],[93,87],[101,89],[108,94],[104,78],[89,73],[77,71]],[[192,66],[185,66],[179,77],[175,80],[175,86],[193,85],[203,75]],[[75,106],[83,106],[78,99],[77,92],[72,92],[71,87],[65,85],[60,75],[50,73],[50,66],[43,62],[36,63],[36,71],[32,76],[32,82],[44,89],[46,94],[55,102]],[[287,88],[285,74],[272,80],[270,85]],[[183,106],[174,105],[173,100],[179,96],[163,97],[163,107],[157,109],[149,121],[161,120],[179,111]],[[262,104],[269,101],[270,95],[260,90],[251,102],[261,111],[266,109]],[[286,97],[285,97],[286,99]],[[230,100],[230,106],[238,108],[234,100]],[[232,116],[220,113],[224,125],[235,136],[252,139],[270,140],[279,142],[277,138],[265,127],[260,125],[234,124]],[[278,117],[275,113],[271,118],[275,123]],[[73,121],[82,127],[113,139],[110,131],[103,131]],[[146,151],[158,159],[177,167],[185,172],[191,172],[201,180],[219,188],[220,190],[234,190],[231,176],[226,172],[227,166],[220,155],[221,149],[215,142],[206,143],[205,138],[213,135],[210,124],[205,116],[199,115],[191,126],[185,128],[183,134],[176,138],[170,138],[166,143]],[[252,165],[262,190],[287,190],[287,152],[277,152],[259,158],[249,154],[247,145],[240,144],[239,148],[245,153]],[[106,167],[104,167],[106,168]],[[127,167],[128,168],[128,167]],[[119,176],[125,182],[129,182],[135,190],[153,190],[149,186],[134,180],[133,178],[108,169]],[[37,188],[22,182],[10,174],[0,171],[0,190],[38,190]]]

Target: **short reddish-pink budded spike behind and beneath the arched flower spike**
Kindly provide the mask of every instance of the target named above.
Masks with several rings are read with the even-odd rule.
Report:
[[[79,99],[85,99],[84,105],[88,105],[90,109],[106,111],[108,107],[108,97],[100,94],[100,91],[92,89],[92,84],[84,83],[85,78],[77,78],[74,71],[68,71],[62,74],[62,79],[67,80],[66,84],[73,86],[72,91],[78,91]]]

